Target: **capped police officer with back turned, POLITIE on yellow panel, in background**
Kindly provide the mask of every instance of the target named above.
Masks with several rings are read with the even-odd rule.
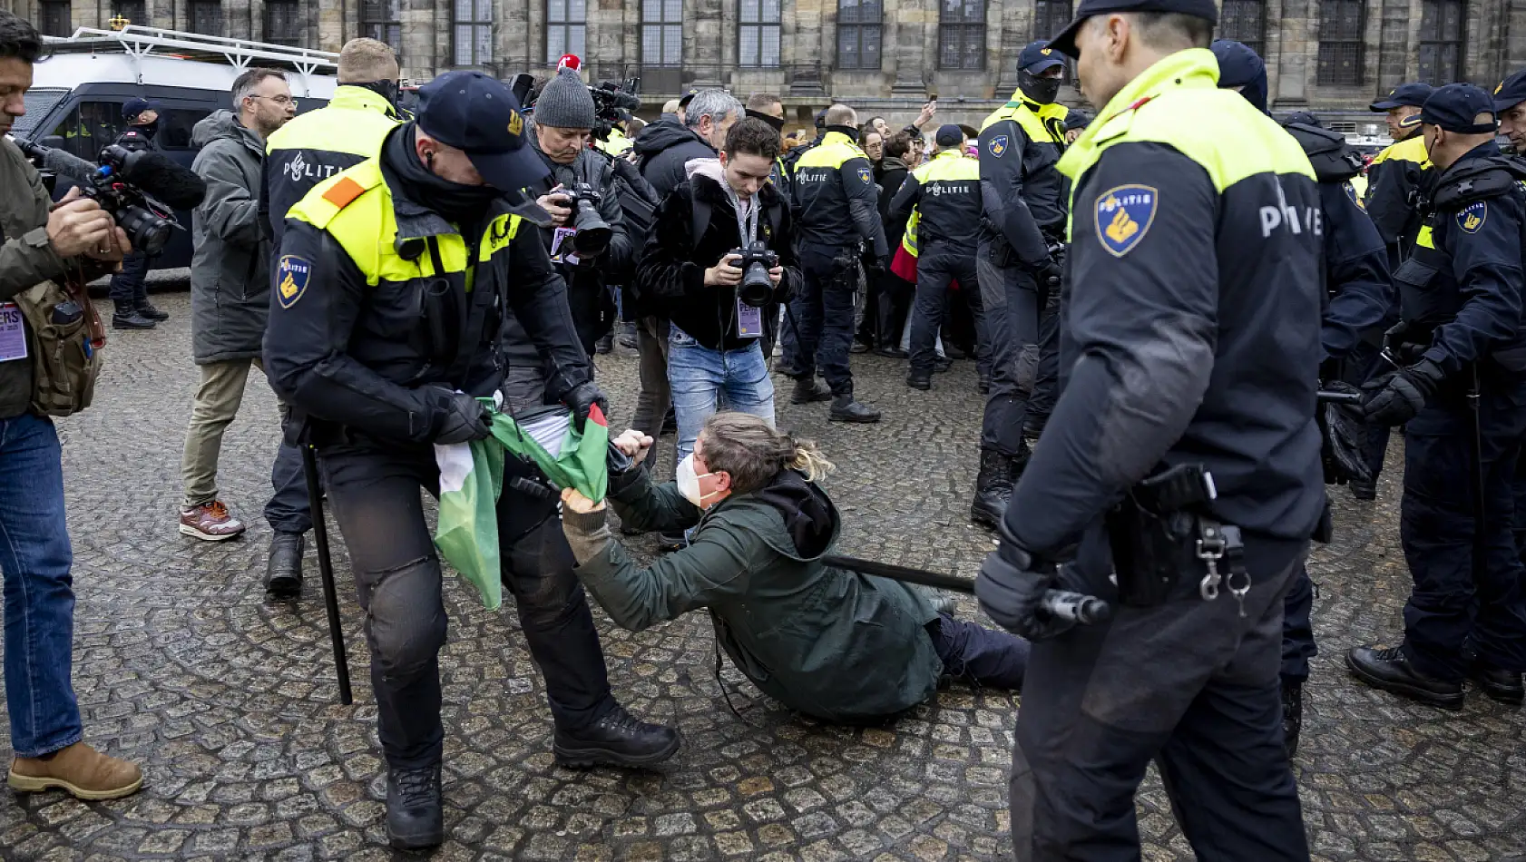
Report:
[[[913,389],[932,389],[932,345],[943,325],[949,284],[957,281],[967,291],[977,285],[980,165],[964,156],[964,131],[957,125],[940,127],[934,143],[937,156],[900,183],[885,217],[887,221],[900,221],[917,214],[917,296],[911,310],[911,372],[906,375],[906,386]],[[984,352],[978,296],[971,307]]]

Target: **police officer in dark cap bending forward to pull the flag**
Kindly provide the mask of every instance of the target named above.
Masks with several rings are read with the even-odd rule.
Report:
[[[418,119],[382,151],[291,207],[266,333],[272,386],[307,424],[349,546],[371,645],[371,683],[388,760],[388,835],[421,848],[444,835],[439,769],[441,568],[420,488],[438,493],[432,444],[482,439],[478,398],[507,377],[513,311],[549,368],[546,388],[584,421],[603,395],[539,230],[505,191],[546,168],[519,102],[481,72],[420,88]],[[517,192],[516,192],[517,194]],[[644,766],[678,751],[610,696],[554,496],[514,488],[497,505],[504,581],[540,667],[559,763]]]

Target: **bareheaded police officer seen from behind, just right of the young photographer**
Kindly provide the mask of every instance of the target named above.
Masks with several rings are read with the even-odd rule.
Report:
[[[859,258],[890,265],[885,226],[879,220],[874,169],[858,148],[858,113],[847,105],[826,111],[826,134],[794,163],[795,207],[800,212],[800,265],[804,285],[789,301],[798,326],[784,339],[786,372],[795,378],[790,401],[832,401],[827,417],[838,423],[877,423],[881,412],[853,397],[853,301],[859,288]],[[816,369],[830,391],[816,383]]]

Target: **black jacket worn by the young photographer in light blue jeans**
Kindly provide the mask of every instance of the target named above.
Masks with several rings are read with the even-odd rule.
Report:
[[[696,197],[710,206],[710,220],[697,243],[693,233]],[[789,204],[768,183],[758,189],[757,201],[763,207],[757,221],[758,232],[784,267],[784,278],[775,290],[775,298],[783,299],[801,284]],[[636,265],[641,296],[705,348],[731,351],[757,342],[737,336],[736,288],[705,284],[705,270],[740,243],[731,197],[708,172],[696,171],[687,183],[662,198],[662,206],[658,207],[656,230],[647,240]]]

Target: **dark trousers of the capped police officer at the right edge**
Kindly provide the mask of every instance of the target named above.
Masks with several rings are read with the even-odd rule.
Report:
[[[1479,423],[1482,453],[1462,392],[1444,388],[1404,426],[1399,542],[1415,589],[1402,648],[1421,673],[1457,682],[1470,653],[1492,668],[1526,671],[1526,569],[1515,545],[1526,381],[1485,383]]]

